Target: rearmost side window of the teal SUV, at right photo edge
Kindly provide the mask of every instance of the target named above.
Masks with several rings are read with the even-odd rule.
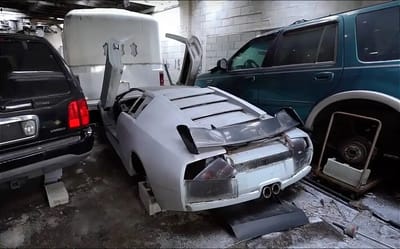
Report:
[[[400,58],[400,7],[357,16],[357,52],[361,61]]]

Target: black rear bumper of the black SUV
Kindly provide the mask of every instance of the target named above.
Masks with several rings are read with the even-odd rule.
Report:
[[[89,155],[93,142],[91,128],[87,128],[81,136],[1,154],[0,183],[19,178],[33,178],[72,166]]]

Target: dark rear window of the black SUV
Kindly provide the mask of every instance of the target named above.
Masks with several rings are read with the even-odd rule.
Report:
[[[69,90],[69,83],[48,45],[1,38],[0,98],[33,98]]]

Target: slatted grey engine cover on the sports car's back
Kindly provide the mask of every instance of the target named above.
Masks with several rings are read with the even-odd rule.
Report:
[[[201,126],[223,127],[259,119],[265,112],[216,88],[155,87],[149,95],[164,96],[187,118]]]

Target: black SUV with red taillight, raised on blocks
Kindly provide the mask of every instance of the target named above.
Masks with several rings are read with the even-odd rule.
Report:
[[[73,165],[93,147],[77,79],[43,38],[0,34],[0,183]]]

